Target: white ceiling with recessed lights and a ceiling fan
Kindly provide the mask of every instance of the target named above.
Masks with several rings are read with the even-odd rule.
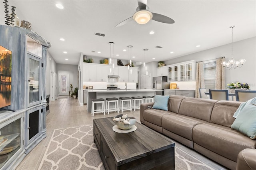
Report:
[[[0,23],[4,25],[2,2]],[[62,4],[64,9],[56,8],[56,3]],[[175,23],[151,20],[140,25],[132,21],[118,28],[114,26],[136,12],[137,1],[9,0],[9,5],[16,6],[20,20],[30,22],[34,32],[51,42],[48,51],[56,63],[63,64],[77,65],[81,52],[88,57],[108,58],[108,42],[115,43],[114,58],[128,60],[127,46],[132,45],[133,62],[144,61],[144,48],[149,49],[146,62],[150,62],[228,44],[232,25],[236,26],[234,42],[256,36],[256,0],[148,0],[151,12],[166,15]],[[150,31],[155,34],[150,35]],[[106,36],[96,36],[95,32]],[[60,38],[65,41],[60,41]],[[156,48],[157,45],[162,48]]]

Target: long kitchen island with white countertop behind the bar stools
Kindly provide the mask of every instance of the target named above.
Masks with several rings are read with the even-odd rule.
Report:
[[[116,97],[136,97],[136,96],[154,96],[156,91],[153,89],[121,89],[121,90],[88,90],[87,92],[87,110],[88,113],[92,110],[92,99],[104,99]]]

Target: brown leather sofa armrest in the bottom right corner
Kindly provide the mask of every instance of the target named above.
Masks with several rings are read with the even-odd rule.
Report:
[[[256,149],[246,148],[239,152],[236,170],[256,170]]]

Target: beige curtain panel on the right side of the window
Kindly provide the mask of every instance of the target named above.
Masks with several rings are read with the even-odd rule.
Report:
[[[216,59],[215,89],[226,89],[225,68],[221,65],[224,57]]]

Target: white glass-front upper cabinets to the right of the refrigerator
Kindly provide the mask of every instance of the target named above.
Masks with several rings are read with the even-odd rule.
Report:
[[[177,63],[168,67],[168,82],[195,81],[196,61]]]

